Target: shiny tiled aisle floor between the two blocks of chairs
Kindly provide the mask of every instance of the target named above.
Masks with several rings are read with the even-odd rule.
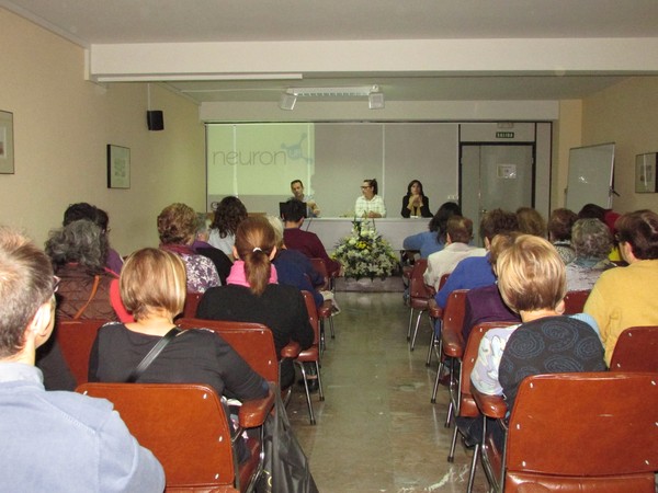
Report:
[[[455,461],[446,461],[446,388],[430,403],[436,364],[426,367],[427,318],[411,353],[401,298],[337,293],[342,312],[322,358],[326,400],[314,395],[316,426],[300,388],[293,394],[288,414],[321,493],[466,491],[472,452],[458,443]],[[474,491],[487,491],[480,468]]]

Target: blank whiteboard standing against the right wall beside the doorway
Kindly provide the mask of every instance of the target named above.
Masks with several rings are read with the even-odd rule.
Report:
[[[578,213],[586,204],[612,208],[614,142],[569,150],[566,207]]]

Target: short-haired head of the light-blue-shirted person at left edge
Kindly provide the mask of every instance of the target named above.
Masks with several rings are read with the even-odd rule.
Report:
[[[0,358],[23,347],[25,329],[53,297],[53,287],[46,254],[19,232],[0,227]]]

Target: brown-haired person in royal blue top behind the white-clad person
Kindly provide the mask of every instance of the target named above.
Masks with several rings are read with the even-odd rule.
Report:
[[[445,285],[436,293],[436,305],[445,308],[447,298],[455,289],[473,289],[496,283],[496,276],[489,263],[491,241],[503,232],[517,231],[517,215],[502,209],[487,211],[480,221],[480,237],[485,242],[485,256],[470,256],[461,261],[451,273]]]

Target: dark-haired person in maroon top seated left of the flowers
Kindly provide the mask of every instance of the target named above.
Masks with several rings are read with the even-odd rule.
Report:
[[[304,204],[292,198],[286,202],[283,208],[283,221],[285,229],[283,230],[283,242],[286,248],[297,250],[304,253],[309,259],[322,259],[327,273],[338,275],[340,273],[340,262],[331,260],[325,250],[325,245],[316,233],[304,231]]]

